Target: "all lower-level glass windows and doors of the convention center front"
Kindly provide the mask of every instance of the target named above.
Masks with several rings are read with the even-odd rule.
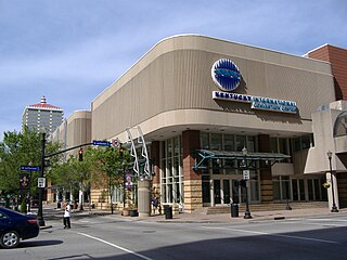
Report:
[[[309,138],[287,139],[270,138],[270,150],[273,153],[291,155],[283,162],[293,162],[294,152],[304,143],[307,148]],[[201,148],[209,151],[258,152],[258,136],[226,133],[200,132]],[[301,145],[303,146],[303,145]],[[182,136],[175,136],[160,142],[160,202],[178,204],[183,208],[183,166]],[[206,159],[202,162],[202,203],[204,207],[246,203],[246,188],[241,185],[243,171],[249,170],[247,195],[249,203],[258,204],[260,199],[260,171],[258,161],[234,159]],[[278,162],[281,164],[281,162]],[[326,200],[326,190],[322,176],[283,174],[272,176],[273,202],[312,202]]]

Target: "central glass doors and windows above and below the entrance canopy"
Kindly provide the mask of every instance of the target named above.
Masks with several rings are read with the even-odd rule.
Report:
[[[256,152],[256,144],[257,136],[253,135],[201,132],[201,147],[204,150],[241,152],[246,147],[249,152]],[[204,206],[245,203],[245,191],[240,185],[244,170],[242,164],[245,161],[227,159],[204,161],[205,169],[202,169]],[[252,203],[259,203],[259,171],[250,169],[249,173],[248,198]]]

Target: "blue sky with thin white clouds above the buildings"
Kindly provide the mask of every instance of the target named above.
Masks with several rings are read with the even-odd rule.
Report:
[[[26,105],[90,109],[158,41],[197,34],[304,55],[347,49],[346,0],[0,0],[0,141]]]

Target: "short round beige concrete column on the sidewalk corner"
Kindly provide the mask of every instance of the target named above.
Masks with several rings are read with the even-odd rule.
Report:
[[[138,181],[138,210],[139,217],[151,216],[151,181]]]

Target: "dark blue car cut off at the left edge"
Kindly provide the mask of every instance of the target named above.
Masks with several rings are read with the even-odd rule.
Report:
[[[17,247],[21,239],[36,237],[39,232],[36,217],[0,208],[0,246],[3,248]]]

